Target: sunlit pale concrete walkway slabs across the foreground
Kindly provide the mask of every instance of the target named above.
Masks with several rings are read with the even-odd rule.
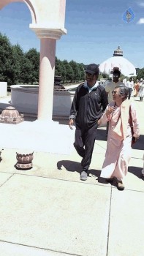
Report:
[[[34,151],[33,168],[17,170],[19,148],[4,148],[1,256],[143,256],[144,102],[132,100],[141,135],[132,149],[123,192],[97,180],[105,157],[105,127],[98,129],[87,181],[80,181],[81,159],[74,149],[67,154]]]

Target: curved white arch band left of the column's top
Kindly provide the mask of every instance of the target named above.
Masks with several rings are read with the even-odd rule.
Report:
[[[4,8],[7,4],[11,4],[14,2],[22,2],[27,5],[31,12],[31,20],[32,23],[37,23],[37,15],[36,15],[36,10],[34,8],[34,5],[31,3],[31,0],[1,0],[0,1],[0,9]]]

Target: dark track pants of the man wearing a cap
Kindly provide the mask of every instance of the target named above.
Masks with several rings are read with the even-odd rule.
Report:
[[[91,157],[94,150],[94,142],[96,140],[97,124],[90,129],[75,130],[75,149],[80,157],[83,157],[83,170],[88,171],[91,164]]]

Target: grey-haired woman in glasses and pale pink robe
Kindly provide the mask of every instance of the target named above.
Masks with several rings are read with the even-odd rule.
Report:
[[[140,129],[134,104],[127,99],[126,86],[115,86],[112,94],[113,102],[107,105],[101,118],[102,123],[109,121],[101,178],[110,183],[116,182],[118,190],[124,190],[123,178],[131,158],[132,138],[136,141],[140,137]]]

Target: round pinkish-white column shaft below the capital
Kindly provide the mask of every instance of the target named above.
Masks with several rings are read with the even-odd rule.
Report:
[[[40,39],[38,120],[52,121],[56,39]]]

